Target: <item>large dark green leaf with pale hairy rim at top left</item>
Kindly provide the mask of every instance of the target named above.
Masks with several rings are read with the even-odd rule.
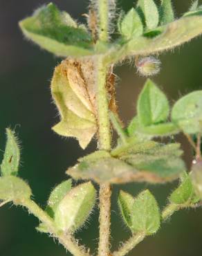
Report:
[[[20,21],[24,35],[42,48],[58,56],[91,55],[92,39],[83,26],[78,26],[66,13],[49,3],[32,17]]]

